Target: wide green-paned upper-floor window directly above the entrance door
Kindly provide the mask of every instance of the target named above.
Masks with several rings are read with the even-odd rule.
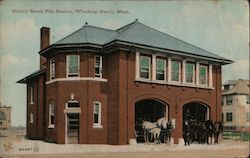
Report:
[[[67,56],[67,72],[68,77],[79,76],[79,55]]]

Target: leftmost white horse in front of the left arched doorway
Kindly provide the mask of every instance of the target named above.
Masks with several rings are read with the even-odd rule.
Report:
[[[143,121],[142,123],[142,129],[144,132],[144,141],[146,143],[149,143],[149,134],[153,135],[154,142],[156,144],[159,144],[159,138],[161,134],[161,128],[159,127],[157,122],[149,122],[149,121]]]

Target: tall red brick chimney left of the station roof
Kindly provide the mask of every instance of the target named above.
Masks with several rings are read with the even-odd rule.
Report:
[[[40,30],[40,50],[45,49],[50,43],[50,28],[42,27]],[[40,69],[46,68],[47,59],[40,55]]]

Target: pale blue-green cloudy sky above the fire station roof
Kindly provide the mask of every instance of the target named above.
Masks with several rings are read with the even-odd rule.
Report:
[[[233,60],[233,64],[222,67],[222,83],[249,78],[247,0],[3,0],[0,1],[0,102],[12,107],[12,125],[26,125],[26,85],[16,82],[39,69],[41,27],[50,27],[53,44],[85,22],[118,29],[135,19]]]

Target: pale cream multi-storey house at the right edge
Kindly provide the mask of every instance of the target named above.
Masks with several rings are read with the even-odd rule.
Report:
[[[229,80],[223,84],[222,118],[228,130],[250,125],[249,80]]]

